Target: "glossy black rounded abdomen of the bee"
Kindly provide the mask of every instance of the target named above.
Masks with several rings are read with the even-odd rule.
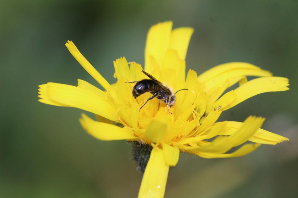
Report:
[[[132,89],[132,95],[134,98],[136,98],[136,97],[142,95],[143,93],[146,93],[149,91],[154,92],[156,90],[158,90],[158,88],[152,80],[144,79],[144,80],[141,80],[135,84],[134,88]]]

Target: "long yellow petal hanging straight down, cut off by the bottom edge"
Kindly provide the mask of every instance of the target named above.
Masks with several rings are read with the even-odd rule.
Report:
[[[162,149],[153,147],[144,172],[138,198],[163,198],[169,165],[164,161]]]

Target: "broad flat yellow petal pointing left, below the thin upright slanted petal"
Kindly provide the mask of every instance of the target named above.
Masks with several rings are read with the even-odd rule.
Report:
[[[55,102],[83,109],[117,122],[114,107],[96,92],[91,92],[83,87],[48,83],[48,96]]]

